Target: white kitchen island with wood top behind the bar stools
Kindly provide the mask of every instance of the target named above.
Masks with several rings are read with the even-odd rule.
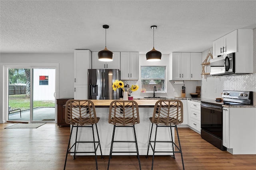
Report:
[[[112,100],[91,100],[96,107],[96,115],[100,117],[100,121],[97,123],[100,144],[103,155],[109,155],[110,144],[113,132],[113,125],[108,123],[109,106]],[[140,123],[135,125],[136,136],[138,140],[138,149],[140,155],[146,155],[148,149],[148,139],[150,135],[151,122],[149,117],[152,117],[154,105],[158,100],[135,100],[139,106]],[[183,103],[184,104],[184,103]],[[76,130],[74,128],[74,130]],[[154,136],[154,129],[152,136]],[[74,133],[75,134],[75,133]],[[173,133],[174,134],[174,133]],[[78,132],[78,138],[80,140],[92,140],[92,131],[87,128],[80,128]],[[157,139],[158,140],[170,140],[170,129],[169,128],[158,128]],[[74,143],[75,135],[72,135],[71,143]],[[97,140],[97,139],[96,139]],[[115,140],[134,140],[132,128],[117,128],[115,134]],[[78,144],[78,151],[92,151],[92,144]],[[171,144],[158,143],[156,145],[158,150],[172,150]],[[113,151],[134,151],[134,143],[115,143]],[[127,153],[124,153],[126,155]],[[150,149],[149,154],[152,154]],[[79,155],[79,154],[78,154]],[[85,155],[85,154],[83,154]],[[97,150],[97,155],[100,155],[100,149]],[[165,154],[164,154],[165,155]],[[170,154],[166,154],[170,155]]]

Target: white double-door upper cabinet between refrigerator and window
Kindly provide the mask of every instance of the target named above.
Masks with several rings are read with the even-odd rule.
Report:
[[[139,53],[138,52],[121,52],[121,80],[138,80],[139,79]]]

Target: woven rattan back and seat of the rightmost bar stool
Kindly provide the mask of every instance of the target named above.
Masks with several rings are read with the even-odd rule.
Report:
[[[158,100],[154,107],[152,123],[178,125],[183,122],[183,103],[180,100]]]

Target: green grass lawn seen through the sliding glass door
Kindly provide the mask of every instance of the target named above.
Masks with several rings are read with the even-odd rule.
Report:
[[[30,98],[23,95],[9,95],[9,106],[12,109],[29,109],[30,108]],[[54,101],[34,101],[35,107],[55,107]]]

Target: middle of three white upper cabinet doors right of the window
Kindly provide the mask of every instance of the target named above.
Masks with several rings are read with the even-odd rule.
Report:
[[[181,79],[190,80],[190,53],[181,53]]]

